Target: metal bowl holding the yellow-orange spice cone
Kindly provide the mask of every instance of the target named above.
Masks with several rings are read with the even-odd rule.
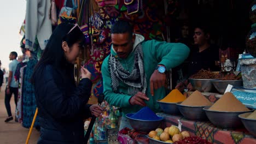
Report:
[[[162,111],[165,113],[171,114],[171,115],[179,115],[179,109],[178,106],[176,105],[177,103],[165,103],[162,101],[157,101],[158,104],[160,105]]]

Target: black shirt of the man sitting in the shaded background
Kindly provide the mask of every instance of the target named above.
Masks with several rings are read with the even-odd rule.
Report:
[[[219,60],[219,52],[217,47],[210,46],[201,52],[192,51],[188,63],[188,75],[191,76],[201,69],[219,71],[219,67],[215,61]]]

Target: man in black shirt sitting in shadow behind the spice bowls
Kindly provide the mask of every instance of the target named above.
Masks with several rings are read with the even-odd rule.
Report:
[[[188,63],[188,74],[175,87],[183,92],[184,88],[188,91],[193,91],[191,83],[188,78],[196,74],[199,70],[219,71],[219,67],[215,64],[219,60],[219,49],[217,46],[210,43],[211,28],[202,23],[198,23],[194,29],[194,50],[190,52]]]

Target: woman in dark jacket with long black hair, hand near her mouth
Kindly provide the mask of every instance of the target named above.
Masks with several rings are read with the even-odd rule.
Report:
[[[78,25],[61,23],[51,35],[34,69],[40,137],[38,143],[84,143],[83,119],[100,116],[97,104],[86,105],[91,94],[91,73],[81,68],[82,80],[75,86],[74,63],[84,35]]]

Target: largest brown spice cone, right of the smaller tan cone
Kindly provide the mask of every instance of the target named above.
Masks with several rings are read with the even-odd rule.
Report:
[[[249,111],[249,109],[247,109],[247,107],[236,99],[235,95],[230,92],[226,92],[222,95],[222,97],[217,100],[209,110],[229,112]]]

